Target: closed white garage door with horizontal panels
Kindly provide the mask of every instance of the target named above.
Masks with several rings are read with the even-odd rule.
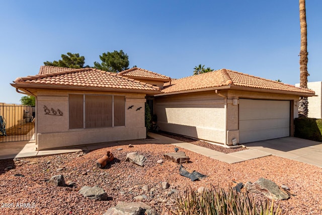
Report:
[[[290,101],[239,99],[239,143],[290,135]]]

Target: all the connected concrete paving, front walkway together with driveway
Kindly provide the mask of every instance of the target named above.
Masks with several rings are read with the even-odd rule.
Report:
[[[189,144],[177,139],[166,137],[163,135],[149,133],[152,139],[144,140],[126,140],[105,142],[103,144],[95,144],[76,148],[66,148],[58,150],[42,150],[36,151],[34,141],[19,141],[19,142],[4,142],[0,143],[0,160],[48,156],[64,153],[92,151],[96,149],[112,147],[112,146],[127,146],[129,144],[172,144],[176,147],[187,149],[189,151],[199,153],[209,158],[222,161],[228,164],[243,162],[250,159],[261,158],[265,156],[275,155],[295,161],[300,161],[307,164],[312,164],[322,167],[322,144],[306,139],[296,137],[284,137],[279,139],[264,140],[245,144],[248,150],[224,154],[204,147]]]

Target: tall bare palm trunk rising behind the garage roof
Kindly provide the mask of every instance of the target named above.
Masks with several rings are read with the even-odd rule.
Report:
[[[307,30],[306,30],[306,9],[305,0],[299,0],[300,27],[301,27],[301,49],[300,49],[300,87],[307,89]],[[308,100],[307,97],[300,97],[298,106],[299,116],[307,117]]]

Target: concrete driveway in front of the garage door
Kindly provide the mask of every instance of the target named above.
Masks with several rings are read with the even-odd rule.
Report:
[[[322,167],[322,142],[297,137],[283,137],[250,142],[244,145],[259,152]]]

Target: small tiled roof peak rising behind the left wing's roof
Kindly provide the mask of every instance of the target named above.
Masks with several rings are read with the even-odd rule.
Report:
[[[148,79],[148,80],[160,80],[160,81],[170,81],[171,78],[168,76],[164,76],[161,74],[153,73],[152,71],[134,67],[130,68],[124,71],[121,71],[119,73],[121,76],[131,77],[133,79],[139,78],[139,79]]]

